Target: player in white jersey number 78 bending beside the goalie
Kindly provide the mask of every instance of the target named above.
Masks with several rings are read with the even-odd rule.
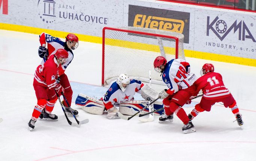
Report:
[[[159,123],[172,122],[175,113],[184,123],[184,133],[196,131],[186,112],[181,108],[196,90],[193,83],[197,77],[190,73],[190,64],[183,59],[172,59],[167,62],[163,56],[158,56],[154,61],[154,68],[162,74],[163,81],[169,88],[159,93],[166,112],[165,116],[159,118]]]

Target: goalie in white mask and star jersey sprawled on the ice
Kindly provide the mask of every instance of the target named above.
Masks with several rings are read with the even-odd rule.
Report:
[[[128,75],[121,74],[116,81],[110,83],[107,92],[101,99],[96,100],[80,93],[77,96],[75,104],[91,114],[102,115],[104,110],[107,110],[108,119],[119,118],[118,111],[122,114],[133,115],[148,104],[148,101],[136,101],[133,97],[136,92],[141,93],[143,86],[144,84],[141,81],[130,80]],[[119,110],[116,106],[119,106]],[[163,103],[155,102],[155,109],[162,107]],[[148,109],[144,112],[148,112]],[[163,112],[162,110],[156,114],[163,114]]]

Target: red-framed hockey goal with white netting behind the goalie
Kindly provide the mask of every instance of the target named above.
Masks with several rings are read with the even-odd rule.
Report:
[[[182,58],[184,35],[140,27],[105,27],[102,30],[102,86],[126,73],[130,78],[163,84],[153,62],[157,56],[167,61]]]

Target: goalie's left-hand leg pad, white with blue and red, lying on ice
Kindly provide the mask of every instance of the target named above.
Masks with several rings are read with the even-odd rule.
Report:
[[[81,107],[84,111],[91,114],[102,115],[105,109],[103,101],[93,99],[92,97],[79,94],[75,100],[75,105]]]

